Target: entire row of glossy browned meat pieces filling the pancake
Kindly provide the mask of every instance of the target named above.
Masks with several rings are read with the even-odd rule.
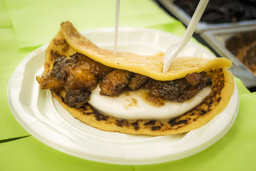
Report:
[[[100,82],[100,94],[116,96],[125,90],[147,89],[147,100],[161,106],[164,100],[183,102],[195,96],[211,79],[206,73],[190,73],[184,78],[171,81],[153,80],[138,73],[104,66],[76,53],[60,57],[53,64],[52,71],[43,77],[36,77],[42,89],[64,87],[64,103],[70,107],[83,107],[90,98],[92,89]]]

